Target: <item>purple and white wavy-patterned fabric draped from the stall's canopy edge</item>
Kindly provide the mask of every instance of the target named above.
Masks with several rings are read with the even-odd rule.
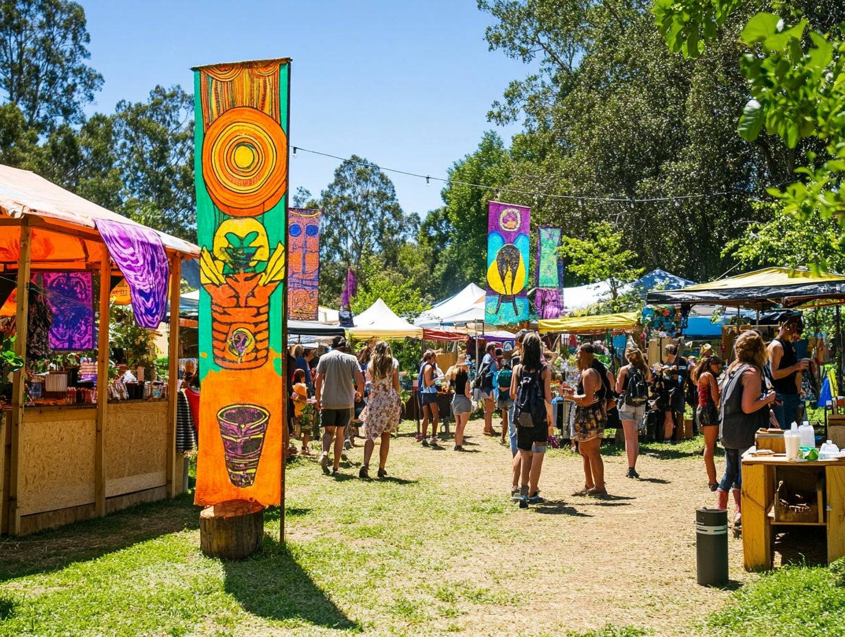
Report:
[[[126,277],[139,326],[155,329],[167,310],[170,264],[161,238],[150,228],[100,219],[97,229]]]

